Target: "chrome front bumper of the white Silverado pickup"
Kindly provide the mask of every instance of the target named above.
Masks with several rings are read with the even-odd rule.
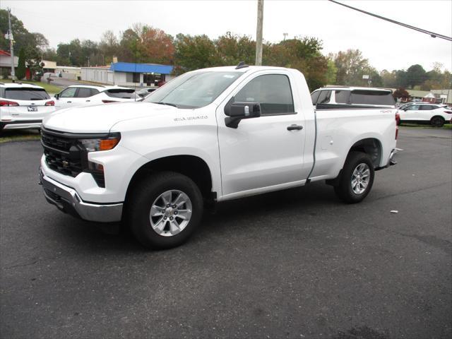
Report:
[[[121,220],[122,203],[86,203],[80,198],[75,189],[71,189],[71,187],[47,177],[42,173],[41,169],[40,184],[42,184],[47,201],[57,206],[64,213],[95,222],[116,222]]]

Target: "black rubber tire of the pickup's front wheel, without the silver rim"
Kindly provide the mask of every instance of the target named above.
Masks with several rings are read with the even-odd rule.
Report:
[[[154,219],[150,218],[150,213],[156,199],[167,191],[180,191],[188,196],[191,203],[191,217],[184,229],[174,235],[169,234],[169,228],[172,224],[167,217],[167,221],[162,221],[162,224],[165,225],[162,234],[167,234],[165,236],[158,234],[153,229],[151,220]],[[196,230],[203,215],[203,197],[198,186],[189,177],[175,172],[158,172],[143,179],[131,192],[128,199],[126,222],[138,242],[150,249],[169,249],[183,244]],[[176,221],[176,218],[180,218],[174,215],[173,217],[174,221]]]

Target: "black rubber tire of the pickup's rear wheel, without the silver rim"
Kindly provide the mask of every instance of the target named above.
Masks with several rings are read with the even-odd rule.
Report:
[[[369,180],[364,191],[358,194],[352,189],[352,175],[355,169],[361,164],[365,164],[363,167],[369,169]],[[345,160],[342,173],[340,174],[339,184],[334,186],[335,194],[345,203],[359,203],[364,200],[367,194],[369,194],[369,191],[374,184],[374,176],[374,165],[372,164],[369,155],[362,152],[350,152],[347,156],[347,160]]]

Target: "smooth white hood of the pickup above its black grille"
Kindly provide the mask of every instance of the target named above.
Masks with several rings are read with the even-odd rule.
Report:
[[[107,133],[120,121],[163,114],[177,114],[179,109],[150,102],[118,102],[88,107],[61,109],[42,122],[46,129],[72,133]]]

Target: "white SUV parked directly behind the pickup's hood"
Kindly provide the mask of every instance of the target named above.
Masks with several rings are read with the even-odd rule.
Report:
[[[132,88],[102,85],[71,85],[54,97],[57,109],[141,100]]]

